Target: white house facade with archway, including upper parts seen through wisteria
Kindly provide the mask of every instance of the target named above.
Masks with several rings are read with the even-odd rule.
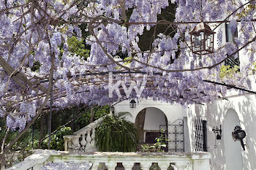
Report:
[[[241,29],[239,24],[237,29]],[[239,36],[238,31],[231,31],[228,23],[222,23],[217,32],[219,30],[222,32],[222,45]],[[218,44],[217,39],[214,44]],[[230,58],[225,65],[239,66],[239,72],[244,74],[248,63],[247,51],[241,50],[236,58]],[[248,77],[252,83],[252,92],[256,91],[255,75]],[[167,131],[170,152],[209,152],[212,170],[256,169],[255,93],[241,94],[241,91],[230,88],[223,98],[203,104],[181,106],[141,99],[135,108],[129,107],[129,101],[122,101],[114,107],[116,113],[131,113],[127,119],[140,129],[140,142],[148,142],[151,134],[157,133],[162,127]],[[246,132],[244,149],[240,140],[233,139],[232,132],[236,126]]]

